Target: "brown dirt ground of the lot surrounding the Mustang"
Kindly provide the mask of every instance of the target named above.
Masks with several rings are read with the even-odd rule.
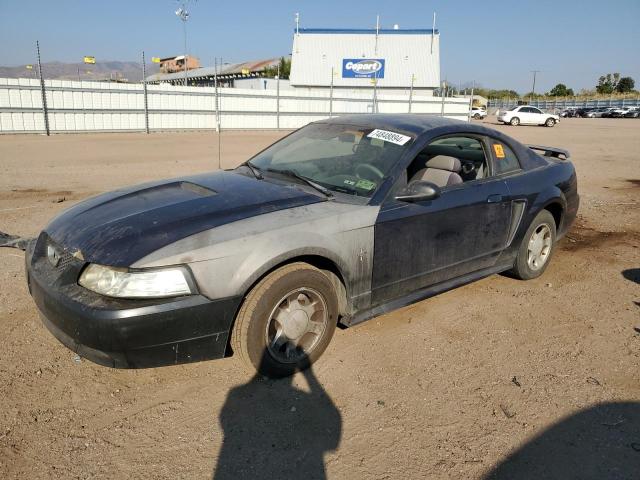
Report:
[[[640,121],[494,119],[573,155],[580,216],[547,272],[338,330],[290,380],[235,358],[78,361],[40,323],[22,252],[0,248],[0,477],[639,478]],[[226,132],[223,167],[281,135]],[[211,132],[0,136],[0,231],[35,236],[89,195],[216,168],[217,151]]]

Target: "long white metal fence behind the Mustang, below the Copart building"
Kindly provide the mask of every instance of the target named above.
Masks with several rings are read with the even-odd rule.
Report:
[[[43,101],[44,100],[44,101]],[[0,133],[292,129],[343,114],[417,113],[466,120],[469,100],[371,92],[0,78]]]

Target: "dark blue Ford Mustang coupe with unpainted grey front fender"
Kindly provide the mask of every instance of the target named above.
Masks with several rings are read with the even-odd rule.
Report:
[[[354,325],[541,275],[578,210],[568,153],[417,115],[307,125],[233,170],[106,193],[27,249],[45,325],[96,363],[305,368]]]

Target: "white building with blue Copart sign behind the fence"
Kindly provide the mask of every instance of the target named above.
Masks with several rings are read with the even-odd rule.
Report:
[[[332,75],[333,73],[333,75]],[[431,29],[318,29],[294,33],[291,86],[433,95],[440,85],[440,34]],[[413,79],[413,80],[412,80]]]

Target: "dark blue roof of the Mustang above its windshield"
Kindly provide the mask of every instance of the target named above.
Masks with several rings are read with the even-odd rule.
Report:
[[[320,120],[314,123],[347,124],[358,127],[397,129],[421,135],[428,130],[438,127],[460,126],[467,124],[462,120],[455,120],[434,115],[416,115],[410,113],[369,113],[361,115],[342,115]]]

